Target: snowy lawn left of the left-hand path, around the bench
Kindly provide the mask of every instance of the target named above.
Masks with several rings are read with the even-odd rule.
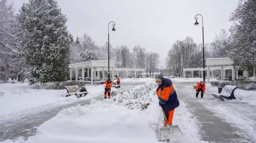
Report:
[[[0,84],[0,117],[8,117],[9,113],[19,112],[25,109],[39,107],[43,105],[57,105],[75,102],[77,100],[86,100],[96,95],[103,94],[104,87],[102,85],[86,85],[85,88],[89,93],[85,97],[77,99],[75,96],[66,96],[67,90],[45,90],[36,89],[28,85],[28,82],[20,83],[11,81]],[[113,88],[113,90],[118,90]]]

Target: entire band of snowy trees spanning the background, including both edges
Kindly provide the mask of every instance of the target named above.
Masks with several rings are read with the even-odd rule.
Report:
[[[254,0],[241,0],[230,15],[233,25],[222,29],[211,43],[205,43],[205,58],[230,57],[234,66],[252,71],[256,66],[256,14]],[[67,16],[55,0],[30,0],[16,15],[13,3],[0,2],[0,78],[11,74],[34,82],[66,80],[68,64],[108,60],[108,42],[97,45],[90,33],[73,37],[67,29]],[[159,54],[147,47],[111,46],[110,60],[117,68],[148,68],[151,76],[164,70],[166,75],[182,76],[183,68],[202,67],[202,43],[192,37],[176,39],[170,45],[165,68]],[[249,74],[253,74],[250,72]]]

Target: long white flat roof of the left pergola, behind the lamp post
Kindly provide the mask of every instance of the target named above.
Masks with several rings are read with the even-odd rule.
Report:
[[[97,61],[86,61],[80,62],[76,64],[69,65],[68,68],[90,68],[90,67],[115,67],[115,61],[110,60],[108,64],[108,60],[97,60]]]

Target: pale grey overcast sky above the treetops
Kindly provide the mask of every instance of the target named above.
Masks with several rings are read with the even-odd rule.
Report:
[[[195,15],[203,16],[204,41],[210,43],[221,29],[228,31],[232,22],[230,14],[238,0],[57,0],[62,13],[67,15],[68,30],[76,38],[90,35],[98,46],[108,40],[110,44],[144,47],[146,51],[160,54],[160,65],[176,40],[192,37],[202,43],[202,19],[195,26]],[[13,0],[18,9],[28,0]]]

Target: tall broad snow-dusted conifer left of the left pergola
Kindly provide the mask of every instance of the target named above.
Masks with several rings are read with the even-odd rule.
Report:
[[[29,67],[30,84],[64,81],[70,54],[66,16],[55,0],[29,0],[19,11],[18,48]]]

